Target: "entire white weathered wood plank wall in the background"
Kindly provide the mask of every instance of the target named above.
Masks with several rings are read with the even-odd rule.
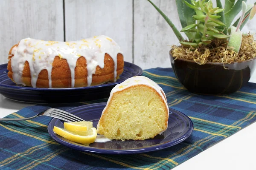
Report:
[[[175,0],[152,1],[180,30]],[[256,33],[255,24],[256,17],[243,31]],[[143,69],[171,67],[170,46],[178,44],[147,0],[0,0],[0,64],[8,61],[12,45],[26,37],[70,41],[101,34],[120,45],[125,61]]]

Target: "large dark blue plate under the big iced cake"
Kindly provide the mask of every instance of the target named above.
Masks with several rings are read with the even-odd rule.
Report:
[[[124,71],[116,82],[81,88],[31,88],[18,86],[7,76],[7,64],[0,65],[0,94],[9,99],[32,103],[70,103],[109,97],[112,88],[143,70],[125,62]]]

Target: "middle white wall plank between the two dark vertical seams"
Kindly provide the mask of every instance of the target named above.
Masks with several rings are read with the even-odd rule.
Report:
[[[132,0],[65,0],[66,40],[111,37],[132,62]]]

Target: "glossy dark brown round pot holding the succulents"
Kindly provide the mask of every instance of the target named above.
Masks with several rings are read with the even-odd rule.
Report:
[[[173,71],[185,88],[197,94],[230,94],[245,85],[255,70],[256,57],[244,62],[225,64],[210,62],[199,65],[187,59],[173,59]]]

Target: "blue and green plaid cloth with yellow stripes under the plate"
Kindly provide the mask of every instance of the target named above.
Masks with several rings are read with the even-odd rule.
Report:
[[[256,84],[248,83],[240,91],[224,96],[202,96],[187,91],[171,68],[145,70],[144,76],[165,91],[168,105],[192,119],[194,131],[184,142],[163,150],[134,155],[103,155],[69,149],[47,133],[51,118],[0,123],[0,169],[19,170],[166,170],[181,164],[213,144],[231,136],[256,120]],[[8,118],[33,116],[50,107],[63,110],[79,105],[106,102],[36,105],[12,113]]]

